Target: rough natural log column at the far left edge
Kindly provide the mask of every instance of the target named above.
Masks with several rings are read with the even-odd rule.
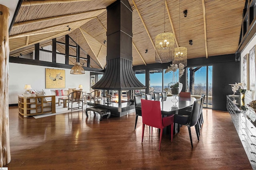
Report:
[[[11,161],[9,139],[9,9],[0,4],[0,167]]]

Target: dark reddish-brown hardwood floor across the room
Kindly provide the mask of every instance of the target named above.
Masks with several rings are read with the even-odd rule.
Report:
[[[9,108],[11,162],[8,170],[86,169],[252,169],[228,112],[204,109],[204,125],[191,148],[188,129],[181,127],[173,143],[164,135],[161,151],[156,128],[148,126],[141,143],[142,118],[134,131],[135,113],[104,117],[82,111],[39,119]]]

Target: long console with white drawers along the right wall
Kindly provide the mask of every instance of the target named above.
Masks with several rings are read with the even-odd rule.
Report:
[[[227,96],[229,111],[239,138],[253,169],[256,169],[256,113],[248,106],[240,106],[239,96]]]

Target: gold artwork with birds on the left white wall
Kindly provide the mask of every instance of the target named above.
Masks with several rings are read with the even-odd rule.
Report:
[[[65,88],[65,70],[45,68],[45,88]]]

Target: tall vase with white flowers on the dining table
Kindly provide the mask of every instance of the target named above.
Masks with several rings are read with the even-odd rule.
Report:
[[[184,65],[182,63],[179,64],[170,64],[168,68],[165,70],[165,73],[167,72],[173,72],[172,75],[172,82],[168,83],[168,90],[172,94],[172,96],[175,96],[175,98],[172,100],[172,102],[177,102],[176,96],[178,96],[182,90],[182,83],[180,83],[178,80],[179,78],[184,74]]]

